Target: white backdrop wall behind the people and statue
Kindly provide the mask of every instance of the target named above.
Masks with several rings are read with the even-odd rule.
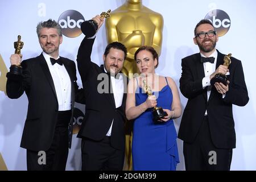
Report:
[[[17,35],[22,35],[24,47],[23,59],[38,56],[42,49],[36,35],[36,24],[49,18],[58,20],[66,10],[79,11],[85,19],[108,9],[114,10],[125,0],[35,0],[35,1],[0,1],[0,55],[9,70],[9,57],[14,53],[13,43]],[[220,37],[217,49],[222,53],[232,53],[240,59],[245,73],[245,80],[250,101],[245,107],[233,107],[236,123],[237,148],[233,150],[232,170],[256,170],[256,93],[254,71],[256,67],[256,2],[253,0],[199,0],[199,1],[166,1],[143,0],[143,5],[163,15],[163,44],[159,58],[157,73],[174,78],[179,87],[181,76],[181,58],[199,52],[193,44],[193,29],[199,20],[203,19],[212,9],[225,11],[231,20],[228,33]],[[67,38],[64,36],[60,46],[60,55],[76,60],[77,49],[84,36]],[[92,60],[102,63],[102,53],[107,45],[105,28],[98,32],[94,43]],[[0,57],[1,58],[1,57]],[[3,63],[0,62],[1,68]],[[0,71],[1,77],[5,73]],[[79,84],[81,85],[80,76]],[[1,80],[2,81],[2,80]],[[181,94],[181,104],[184,109],[187,99]],[[0,91],[0,152],[9,170],[26,170],[26,150],[19,147],[24,120],[27,114],[27,97],[24,94],[18,100],[9,99]],[[176,119],[176,129],[179,130],[180,118]],[[178,170],[184,170],[182,141],[177,139],[180,152]],[[79,170],[81,166],[80,139],[73,136],[73,145],[69,151],[68,170]]]

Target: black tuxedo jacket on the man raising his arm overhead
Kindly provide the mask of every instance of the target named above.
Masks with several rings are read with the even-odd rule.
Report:
[[[114,148],[124,150],[127,77],[123,76],[125,92],[123,94],[122,105],[115,108],[114,95],[113,92],[110,92],[110,75],[105,73],[103,65],[99,67],[90,60],[94,40],[95,39],[84,38],[77,54],[77,67],[85,92],[85,117],[77,137],[100,141],[108,133],[113,121],[110,143]],[[104,76],[104,78],[102,78],[102,76]],[[106,81],[109,84],[102,85],[102,81]],[[106,89],[107,92],[102,93],[99,91],[102,87],[106,87],[104,89]]]

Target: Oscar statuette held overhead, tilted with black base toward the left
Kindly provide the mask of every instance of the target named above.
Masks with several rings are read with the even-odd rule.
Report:
[[[111,10],[108,10],[107,12],[102,12],[100,15],[101,18],[109,18],[110,12]],[[81,31],[88,38],[91,38],[93,35],[95,35],[97,30],[98,24],[93,19],[86,20],[81,23]]]

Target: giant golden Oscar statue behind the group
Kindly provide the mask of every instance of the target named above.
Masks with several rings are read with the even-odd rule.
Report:
[[[163,16],[143,6],[142,0],[126,0],[122,6],[112,11],[110,18],[106,19],[106,34],[108,43],[118,41],[127,48],[127,57],[122,69],[126,76],[137,72],[134,53],[139,47],[152,46],[160,55],[162,31]],[[126,170],[132,169],[132,126],[132,121],[126,122]]]

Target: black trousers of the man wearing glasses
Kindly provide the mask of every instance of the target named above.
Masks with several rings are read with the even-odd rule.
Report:
[[[185,168],[191,170],[229,171],[232,160],[232,149],[214,146],[210,136],[208,117],[200,127],[193,143],[183,143]]]

